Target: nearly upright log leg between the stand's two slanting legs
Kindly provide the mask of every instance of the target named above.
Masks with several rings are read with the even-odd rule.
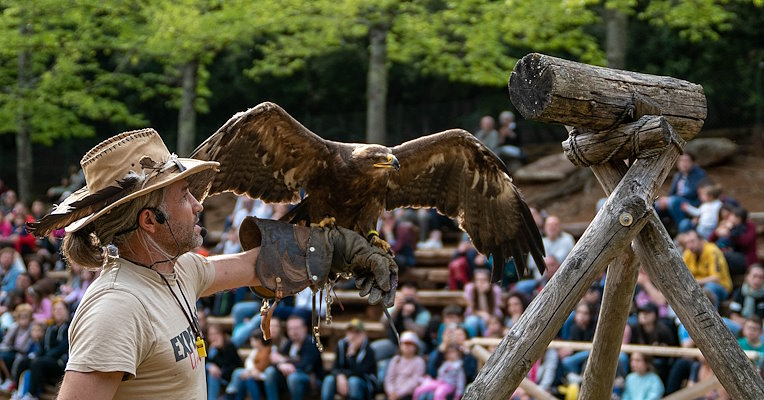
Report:
[[[623,330],[629,316],[639,269],[631,248],[608,267],[592,352],[584,370],[580,399],[607,399],[613,393]]]

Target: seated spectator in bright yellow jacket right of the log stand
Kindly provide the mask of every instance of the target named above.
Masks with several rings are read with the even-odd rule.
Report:
[[[680,239],[684,243],[684,263],[698,284],[716,295],[716,308],[727,300],[732,290],[727,260],[715,244],[705,241],[698,232],[688,231]]]

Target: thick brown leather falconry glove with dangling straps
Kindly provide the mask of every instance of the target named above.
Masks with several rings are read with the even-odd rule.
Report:
[[[239,228],[239,241],[244,250],[260,247],[255,273],[262,286],[253,290],[265,299],[260,327],[266,339],[270,337],[273,306],[306,287],[314,293],[313,333],[318,339],[315,295],[340,277],[355,276],[361,296],[369,295],[371,304],[393,304],[398,266],[387,253],[349,229],[304,227],[247,217]],[[268,299],[275,299],[273,306]],[[327,308],[327,320],[328,315]]]

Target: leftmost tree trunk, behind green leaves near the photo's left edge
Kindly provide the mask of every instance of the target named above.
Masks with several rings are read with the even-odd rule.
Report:
[[[26,34],[26,25],[21,24],[19,33]],[[32,142],[27,123],[26,100],[29,89],[29,52],[22,49],[18,58],[18,111],[16,113],[16,179],[19,200],[25,204],[32,201]]]

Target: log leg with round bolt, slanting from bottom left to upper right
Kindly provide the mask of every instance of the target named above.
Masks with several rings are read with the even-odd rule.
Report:
[[[678,156],[678,149],[670,147],[657,161],[639,160],[629,169],[560,269],[480,370],[465,399],[506,399],[512,394],[591,282],[641,230]]]

